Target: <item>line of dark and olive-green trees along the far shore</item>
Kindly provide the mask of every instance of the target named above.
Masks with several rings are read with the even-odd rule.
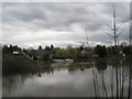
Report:
[[[40,45],[37,50],[50,51],[53,54],[54,58],[89,58],[94,55],[98,55],[98,57],[107,57],[114,55],[132,55],[132,46],[108,46],[106,45],[97,45],[95,47],[87,47],[80,45],[78,47],[73,47],[68,45],[66,48],[54,47],[54,45],[45,46],[44,48]],[[30,54],[35,50],[21,48],[18,45],[3,45],[2,54],[12,54],[13,51],[22,52],[25,54]]]

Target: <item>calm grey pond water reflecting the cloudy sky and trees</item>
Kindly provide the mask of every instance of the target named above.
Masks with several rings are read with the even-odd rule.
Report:
[[[96,59],[92,64],[68,63],[67,65],[67,63],[37,63],[37,70],[3,75],[3,96],[116,96],[116,68],[113,64],[116,65],[116,63],[106,59]],[[128,96],[129,68],[125,66],[125,62],[121,62],[119,65],[119,74],[123,76],[124,81],[121,81],[120,86],[123,84],[123,96]]]

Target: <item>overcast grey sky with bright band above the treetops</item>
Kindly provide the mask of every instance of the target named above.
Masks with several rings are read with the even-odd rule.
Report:
[[[116,10],[118,25],[123,22],[120,31],[125,31],[120,41],[124,41],[129,36],[130,3],[116,3]],[[86,44],[87,28],[89,45],[108,45],[112,38],[106,32],[112,31],[107,25],[112,26],[112,3],[2,3],[3,44],[79,46]]]

